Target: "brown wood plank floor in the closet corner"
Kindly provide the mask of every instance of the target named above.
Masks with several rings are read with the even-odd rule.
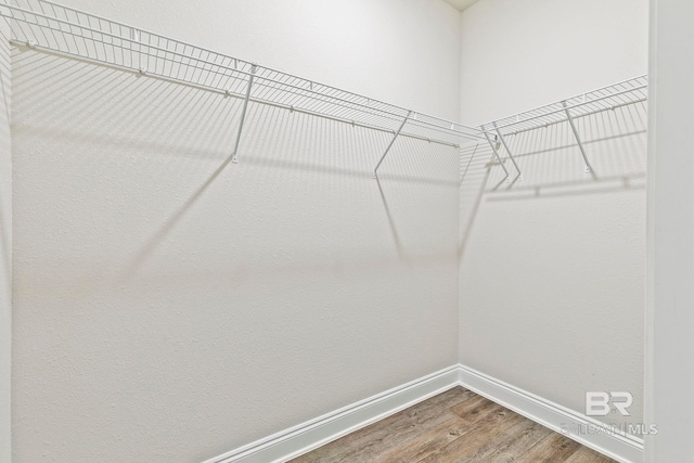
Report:
[[[551,462],[614,460],[462,387],[351,433],[292,463]]]

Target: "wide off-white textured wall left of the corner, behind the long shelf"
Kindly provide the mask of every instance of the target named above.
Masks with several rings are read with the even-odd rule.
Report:
[[[459,114],[440,0],[66,1]],[[329,4],[330,3],[330,4]],[[200,461],[453,364],[455,150],[23,50],[14,461]]]

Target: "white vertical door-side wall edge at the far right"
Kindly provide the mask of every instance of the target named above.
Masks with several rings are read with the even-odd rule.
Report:
[[[646,461],[694,460],[694,4],[651,1]]]

